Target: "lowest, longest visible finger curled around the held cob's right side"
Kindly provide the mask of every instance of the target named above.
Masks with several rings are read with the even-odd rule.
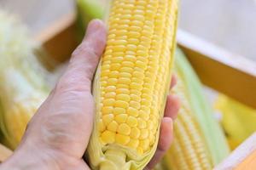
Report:
[[[152,160],[149,161],[148,166],[145,169],[153,169],[153,167],[160,161],[160,159],[165,155],[166,151],[170,148],[173,139],[172,126],[172,118],[164,117],[162,119],[159,144]]]

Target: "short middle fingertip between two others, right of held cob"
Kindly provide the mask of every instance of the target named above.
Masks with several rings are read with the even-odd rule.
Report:
[[[169,94],[166,101],[165,116],[173,120],[177,118],[177,112],[180,108],[180,100],[177,96]]]

